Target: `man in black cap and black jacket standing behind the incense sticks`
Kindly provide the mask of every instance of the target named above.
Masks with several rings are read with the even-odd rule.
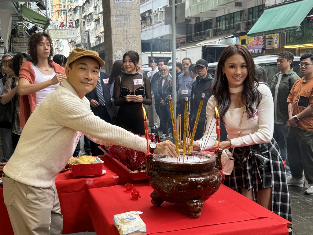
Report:
[[[191,98],[190,98],[190,129],[192,131],[194,123],[196,121],[198,108],[201,100],[202,93],[205,94],[203,106],[201,109],[198,127],[194,139],[200,139],[203,135],[204,123],[206,114],[206,107],[209,98],[212,96],[211,85],[213,83],[213,77],[208,73],[208,62],[206,60],[198,60],[196,62],[196,71],[198,76],[196,81],[192,83]]]

